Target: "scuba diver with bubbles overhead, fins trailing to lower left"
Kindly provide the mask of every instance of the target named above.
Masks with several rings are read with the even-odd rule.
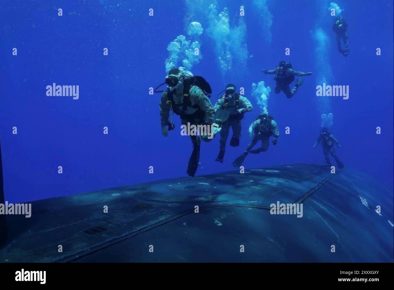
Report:
[[[273,135],[272,144],[276,145],[279,136],[279,128],[274,119],[268,113],[263,113],[256,117],[255,121],[249,127],[249,138],[253,138],[247,146],[246,150],[239,156],[232,165],[238,168],[242,165],[246,155],[250,152],[258,154],[265,152],[269,146],[269,137]],[[250,150],[256,143],[261,140],[261,147],[255,150]]]

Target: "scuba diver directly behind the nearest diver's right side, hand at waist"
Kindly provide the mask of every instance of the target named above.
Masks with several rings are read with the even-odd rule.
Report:
[[[240,145],[241,120],[243,119],[243,114],[253,110],[253,106],[249,100],[236,93],[235,89],[236,86],[233,84],[228,84],[225,89],[226,93],[217,100],[214,106],[215,119],[220,119],[222,122],[220,131],[219,155],[217,155],[215,160],[221,163],[223,163],[230,126],[232,128],[230,146],[237,147]],[[223,93],[223,91],[220,93]]]

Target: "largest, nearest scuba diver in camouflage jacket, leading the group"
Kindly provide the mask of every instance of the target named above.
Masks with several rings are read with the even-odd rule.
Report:
[[[157,91],[157,89],[167,84],[165,91]],[[191,153],[187,173],[194,176],[199,159],[200,159],[200,144],[201,140],[209,142],[212,138],[220,132],[220,120],[218,123],[214,122],[215,111],[208,97],[212,93],[210,85],[201,76],[194,76],[190,71],[186,71],[183,67],[171,69],[165,82],[160,84],[154,90],[156,93],[162,93],[160,101],[160,117],[162,125],[162,134],[164,137],[168,136],[168,130],[174,130],[173,113],[180,116],[182,125],[198,126],[206,125],[212,128],[211,134],[209,131],[203,135],[197,136],[190,134],[193,143],[193,152]],[[208,95],[208,97],[207,97]],[[170,110],[172,111],[171,123],[168,121]],[[168,125],[168,130],[166,126]]]

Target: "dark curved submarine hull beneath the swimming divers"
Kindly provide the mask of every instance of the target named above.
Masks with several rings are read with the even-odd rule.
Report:
[[[303,217],[271,215],[269,205],[277,201],[303,203]],[[368,175],[347,168],[331,174],[319,164],[123,186],[34,201],[32,211],[30,218],[7,216],[1,262],[392,262],[393,257],[393,194]]]

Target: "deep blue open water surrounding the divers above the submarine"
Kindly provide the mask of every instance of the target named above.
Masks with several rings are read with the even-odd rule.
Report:
[[[198,7],[209,3],[195,2]],[[346,167],[360,169],[393,190],[393,2],[336,2],[349,24],[348,58],[336,50],[329,2],[262,1],[273,15],[267,28],[252,1],[217,1],[217,11],[228,7],[230,19],[245,6],[245,43],[253,56],[222,77],[215,39],[207,33],[209,20],[204,13],[190,12],[195,10],[189,2],[2,1],[0,140],[5,199],[32,201],[186,176],[190,138],[177,130],[162,136],[160,95],[149,95],[149,88],[164,82],[167,45],[187,35],[189,18],[204,28],[203,59],[191,71],[211,84],[212,103],[226,84],[234,83],[245,88],[254,106],[242,121],[240,146],[227,144],[223,165],[214,162],[219,136],[202,144],[197,175],[234,170],[231,162],[249,143],[247,128],[260,113],[251,96],[252,83],[260,81],[272,89],[268,110],[281,135],[277,146],[248,156],[245,167],[323,163],[321,146],[312,146],[324,98],[316,96],[316,85],[321,84],[319,76],[325,76],[331,85],[349,86],[348,100],[325,97],[330,100],[327,113],[334,116],[332,132],[342,145],[337,155]],[[58,16],[58,8],[63,16]],[[324,45],[316,41],[316,31],[326,35]],[[108,56],[103,55],[105,47]],[[236,50],[239,44],[230,47]],[[290,56],[284,55],[285,48],[290,48]],[[381,48],[381,56],[376,48]],[[273,75],[260,72],[282,59],[298,71],[314,73],[304,78],[292,99],[274,94]],[[46,86],[54,82],[78,85],[79,99],[47,97]],[[179,117],[175,125],[179,127]],[[108,135],[103,134],[104,126]],[[284,134],[286,126],[289,135]],[[63,174],[58,174],[59,165]],[[149,166],[154,166],[154,174],[149,174]]]

